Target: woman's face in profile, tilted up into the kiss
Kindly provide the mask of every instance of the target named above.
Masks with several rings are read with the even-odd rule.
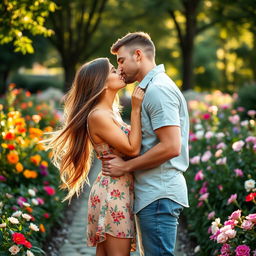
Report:
[[[126,86],[124,78],[111,63],[109,64],[109,70],[109,75],[106,80],[106,88],[110,90],[119,90],[124,88]]]

